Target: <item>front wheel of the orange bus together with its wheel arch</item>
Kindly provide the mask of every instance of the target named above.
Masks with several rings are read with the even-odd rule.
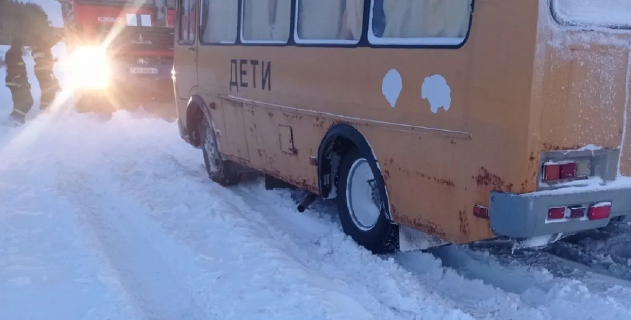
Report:
[[[215,123],[199,96],[192,96],[186,108],[186,120],[191,144],[203,151],[208,178],[222,186],[237,185],[240,181],[235,163],[224,159],[216,137]]]

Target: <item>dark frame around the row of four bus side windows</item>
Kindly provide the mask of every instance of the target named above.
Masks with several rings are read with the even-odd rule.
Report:
[[[181,0],[178,0],[178,1],[181,1]],[[201,46],[238,45],[241,47],[307,47],[307,48],[317,47],[317,48],[348,48],[348,49],[365,47],[365,48],[373,48],[373,49],[451,49],[451,50],[457,50],[464,47],[464,45],[468,43],[469,38],[471,36],[471,30],[473,28],[473,19],[474,19],[474,13],[475,13],[475,4],[477,0],[471,0],[471,13],[469,14],[469,26],[468,26],[467,33],[464,39],[462,40],[462,42],[455,45],[449,45],[449,44],[444,44],[444,43],[438,43],[438,44],[428,44],[428,43],[402,44],[402,43],[396,43],[396,42],[370,43],[368,35],[369,35],[369,31],[370,33],[372,33],[372,8],[374,6],[374,0],[364,0],[362,35],[358,42],[356,42],[356,40],[345,40],[352,43],[340,43],[340,40],[333,40],[333,42],[331,42],[330,40],[324,40],[324,41],[305,40],[305,41],[297,42],[296,39],[297,38],[300,39],[300,37],[297,37],[298,1],[300,0],[291,0],[292,8],[291,8],[291,15],[290,15],[290,37],[286,43],[259,42],[257,40],[250,40],[247,42],[243,42],[242,37],[241,37],[242,32],[243,32],[242,30],[243,29],[242,27],[243,25],[242,3],[243,2],[242,0],[239,0],[238,1],[239,11],[237,13],[237,37],[236,37],[237,39],[236,41],[234,43],[206,43],[202,39],[202,32],[201,32],[201,27],[202,27],[201,1],[203,0],[198,1],[199,23],[197,26],[198,27],[198,40],[199,40],[199,45]],[[419,39],[419,38],[414,38],[414,39]]]

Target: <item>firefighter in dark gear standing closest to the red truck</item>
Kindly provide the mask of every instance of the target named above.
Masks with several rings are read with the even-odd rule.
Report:
[[[44,36],[35,40],[33,43],[31,54],[33,60],[35,60],[35,77],[42,89],[42,96],[40,102],[40,110],[47,110],[55,100],[55,95],[59,91],[59,81],[55,77],[53,71],[54,63],[57,61],[52,56],[52,47],[59,42],[60,38],[57,36],[49,37],[50,40],[46,40]]]

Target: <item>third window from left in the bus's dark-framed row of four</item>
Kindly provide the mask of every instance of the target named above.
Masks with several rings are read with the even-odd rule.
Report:
[[[297,43],[357,43],[363,0],[298,0]]]

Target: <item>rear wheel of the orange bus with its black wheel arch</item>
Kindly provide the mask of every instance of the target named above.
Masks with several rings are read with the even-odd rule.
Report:
[[[356,172],[370,176],[369,180],[373,181],[370,188],[369,180],[362,179],[365,177],[355,178]],[[324,136],[318,151],[318,180],[321,196],[336,198],[342,227],[355,242],[373,253],[389,253],[398,249],[399,227],[390,217],[390,202],[383,175],[368,140],[355,127],[339,123]],[[353,191],[354,185],[360,193]],[[372,193],[372,199],[378,199],[374,203],[375,208],[355,206],[357,203],[352,198],[366,196],[366,188],[369,188],[366,195]],[[375,212],[367,217],[367,211]]]

